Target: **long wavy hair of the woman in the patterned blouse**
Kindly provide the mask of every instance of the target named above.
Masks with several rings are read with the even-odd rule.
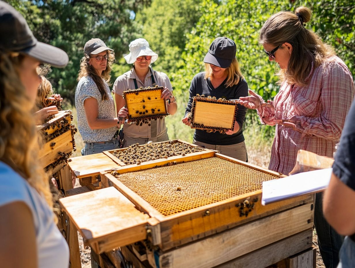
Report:
[[[89,64],[90,56],[85,55],[84,57],[82,57],[81,61],[80,61],[79,76],[77,79],[77,81],[79,81],[82,77],[86,77],[86,76],[91,77],[92,80],[94,80],[95,84],[97,85],[97,88],[100,91],[102,100],[109,99],[105,84],[102,79],[104,79],[108,85],[111,85],[110,84],[110,79],[111,79],[110,73],[111,73],[111,65],[115,60],[115,53],[108,51],[108,56],[109,56],[109,58],[107,60],[107,66],[106,66],[106,69],[102,71],[101,77],[97,74],[94,67],[92,67],[92,65]]]

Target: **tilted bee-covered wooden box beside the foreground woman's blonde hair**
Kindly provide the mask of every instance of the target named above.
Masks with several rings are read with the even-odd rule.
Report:
[[[75,148],[74,134],[76,128],[71,124],[70,110],[59,111],[48,122],[37,126],[37,130],[45,139],[45,144],[40,148],[39,159],[45,170],[53,173],[65,165]]]

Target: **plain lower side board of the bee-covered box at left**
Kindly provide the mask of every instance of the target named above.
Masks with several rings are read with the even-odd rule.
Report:
[[[55,143],[53,149],[50,146],[51,144]],[[44,144],[44,146],[39,151],[39,161],[41,166],[47,167],[47,165],[53,163],[61,156],[58,152],[62,153],[69,153],[73,151],[73,143],[71,137],[71,131],[68,130],[67,132],[63,133],[59,137],[55,137],[53,140]]]

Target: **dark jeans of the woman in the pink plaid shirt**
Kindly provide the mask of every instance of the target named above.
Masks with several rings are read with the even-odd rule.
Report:
[[[336,268],[339,263],[339,251],[344,237],[339,235],[330,226],[323,216],[323,193],[316,194],[314,209],[314,226],[318,236],[318,246],[324,266],[326,268]]]

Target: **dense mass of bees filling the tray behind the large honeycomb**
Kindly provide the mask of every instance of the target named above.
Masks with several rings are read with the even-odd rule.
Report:
[[[114,151],[112,154],[127,165],[139,165],[146,161],[168,158],[171,156],[185,156],[188,153],[201,152],[202,150],[202,148],[192,147],[185,143],[169,141],[164,143],[149,143],[144,144],[143,146],[139,146],[139,144],[136,143],[132,144],[125,150]],[[171,162],[171,164],[175,164],[174,162]]]

